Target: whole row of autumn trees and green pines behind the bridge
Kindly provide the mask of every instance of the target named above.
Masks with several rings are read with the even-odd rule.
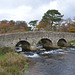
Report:
[[[32,20],[28,24],[25,21],[2,20],[0,21],[0,34],[24,32],[31,30],[75,32],[75,17],[62,19],[64,15],[58,10],[48,10],[42,16],[41,21]],[[38,23],[38,24],[37,24]]]

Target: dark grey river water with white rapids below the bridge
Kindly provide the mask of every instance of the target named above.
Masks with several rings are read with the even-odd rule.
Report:
[[[23,75],[75,75],[75,48],[25,53],[35,62]]]

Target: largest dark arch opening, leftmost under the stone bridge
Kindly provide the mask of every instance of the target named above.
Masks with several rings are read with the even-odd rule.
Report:
[[[23,52],[30,51],[30,43],[25,40],[19,41],[15,47],[22,47]]]

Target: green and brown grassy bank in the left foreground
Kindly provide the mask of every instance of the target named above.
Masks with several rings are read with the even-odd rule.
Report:
[[[0,75],[21,75],[28,71],[25,56],[15,53],[11,48],[7,47],[0,48],[0,52]]]

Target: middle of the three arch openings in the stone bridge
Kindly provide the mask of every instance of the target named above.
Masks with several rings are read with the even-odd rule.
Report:
[[[41,39],[41,40],[38,42],[37,45],[38,45],[38,46],[39,46],[39,45],[42,45],[43,48],[49,49],[49,48],[52,47],[52,41],[51,41],[50,39],[43,38],[43,39]]]

